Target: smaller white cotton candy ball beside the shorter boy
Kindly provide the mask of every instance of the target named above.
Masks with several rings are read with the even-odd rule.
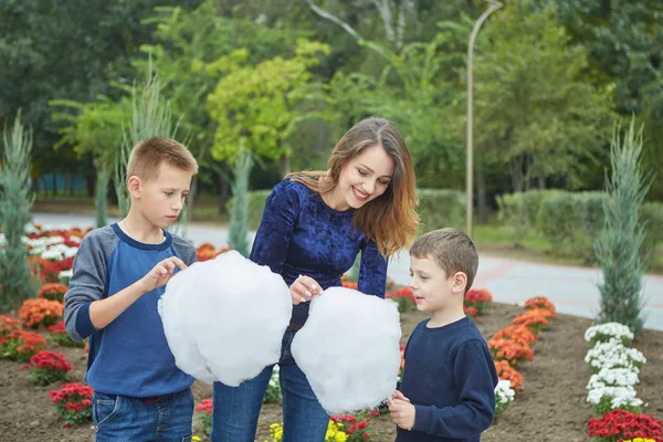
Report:
[[[313,299],[292,352],[323,408],[340,414],[377,407],[393,393],[400,337],[394,303],[332,287]]]

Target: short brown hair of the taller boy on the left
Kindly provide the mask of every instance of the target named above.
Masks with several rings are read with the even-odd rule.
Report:
[[[156,178],[159,165],[166,161],[172,167],[198,173],[198,162],[187,147],[175,139],[151,137],[138,143],[131,149],[127,164],[127,178],[136,176],[143,179]]]

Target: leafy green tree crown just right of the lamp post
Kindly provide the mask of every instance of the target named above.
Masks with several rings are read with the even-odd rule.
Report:
[[[514,191],[548,179],[582,182],[583,160],[600,149],[610,90],[582,80],[583,48],[570,44],[550,7],[509,3],[480,35],[475,62],[480,156],[508,165]]]

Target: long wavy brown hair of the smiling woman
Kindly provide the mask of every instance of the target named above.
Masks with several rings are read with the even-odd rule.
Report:
[[[355,212],[355,224],[386,256],[409,245],[419,224],[417,214],[417,179],[412,159],[402,135],[383,118],[366,118],[348,130],[334,147],[327,171],[290,173],[297,181],[318,193],[327,193],[338,183],[347,164],[366,148],[380,146],[393,159],[393,178],[380,197]]]

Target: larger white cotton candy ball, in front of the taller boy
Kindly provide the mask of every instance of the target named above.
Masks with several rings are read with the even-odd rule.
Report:
[[[292,301],[280,275],[230,251],[178,273],[160,314],[178,367],[236,387],[278,361]]]

